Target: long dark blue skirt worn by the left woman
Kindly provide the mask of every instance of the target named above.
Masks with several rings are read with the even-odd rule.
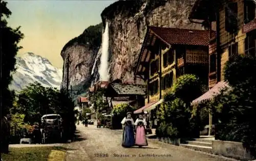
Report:
[[[132,147],[135,145],[133,126],[126,125],[123,128],[123,147]]]

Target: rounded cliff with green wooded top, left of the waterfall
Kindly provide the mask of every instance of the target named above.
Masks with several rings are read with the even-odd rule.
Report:
[[[101,43],[102,23],[89,26],[78,37],[70,40],[62,49],[63,76],[61,89],[75,90],[78,94],[90,86],[91,71]],[[96,75],[94,75],[95,77]],[[68,84],[67,84],[68,82]]]

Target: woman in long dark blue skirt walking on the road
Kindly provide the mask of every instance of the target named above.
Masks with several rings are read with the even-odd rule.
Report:
[[[134,121],[132,119],[132,113],[128,112],[127,116],[123,118],[121,124],[123,125],[123,147],[132,147],[135,145],[134,139]]]

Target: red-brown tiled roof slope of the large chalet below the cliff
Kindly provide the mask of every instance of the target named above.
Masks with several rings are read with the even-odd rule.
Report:
[[[148,26],[148,28],[169,45],[209,45],[209,32],[207,30],[160,28],[155,26]]]

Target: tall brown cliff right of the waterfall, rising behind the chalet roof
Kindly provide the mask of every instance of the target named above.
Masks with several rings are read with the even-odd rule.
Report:
[[[134,15],[125,15],[116,11],[125,3],[117,2],[102,12],[102,21],[109,21],[111,79],[121,78],[133,81],[133,67],[139,56],[146,33],[146,26],[161,26],[183,29],[202,29],[200,24],[190,23],[187,19],[193,7],[189,1],[141,1],[140,8]],[[119,3],[119,4],[118,4]],[[129,1],[129,3],[133,3]],[[135,3],[135,2],[134,2]],[[114,15],[114,16],[113,16]]]

